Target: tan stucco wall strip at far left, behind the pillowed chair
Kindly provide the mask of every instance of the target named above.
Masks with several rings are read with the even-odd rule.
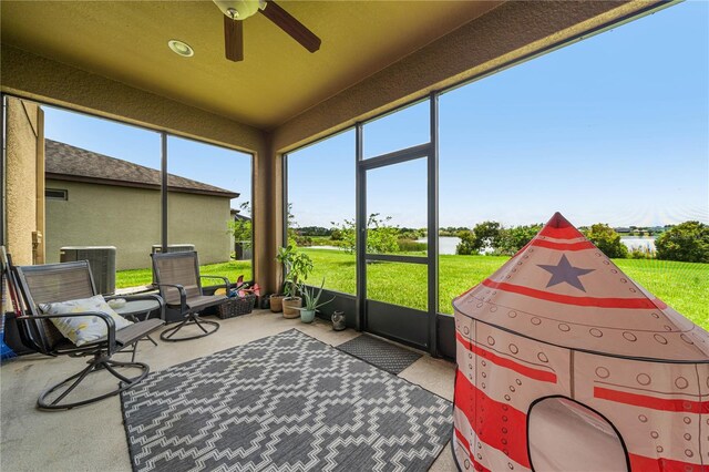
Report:
[[[8,100],[7,114],[7,246],[14,264],[32,264],[32,232],[37,230],[38,106]]]

